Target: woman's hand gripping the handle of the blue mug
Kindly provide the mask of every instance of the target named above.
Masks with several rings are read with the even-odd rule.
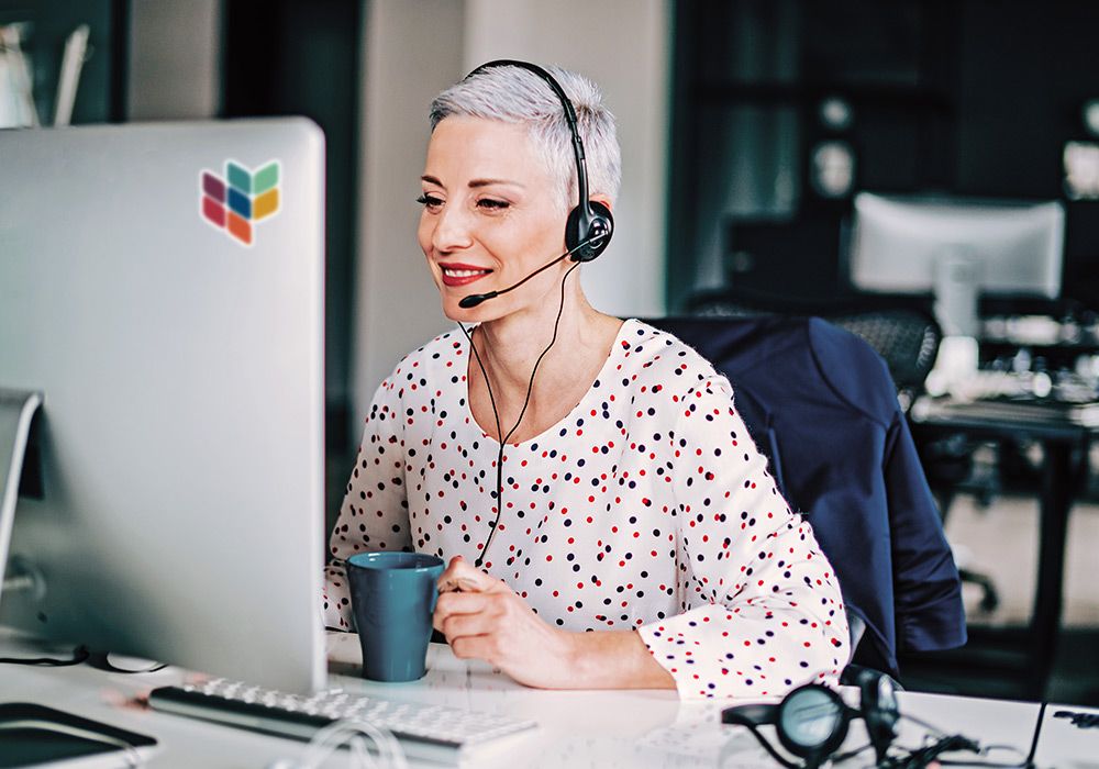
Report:
[[[507,584],[457,556],[439,591],[433,624],[455,657],[484,659],[529,687],[576,686],[576,634],[547,625]]]

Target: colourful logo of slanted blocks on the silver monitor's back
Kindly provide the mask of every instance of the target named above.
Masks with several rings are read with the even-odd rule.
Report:
[[[255,242],[258,222],[278,213],[281,164],[270,160],[252,170],[225,161],[225,176],[203,170],[199,177],[202,218],[246,246]]]

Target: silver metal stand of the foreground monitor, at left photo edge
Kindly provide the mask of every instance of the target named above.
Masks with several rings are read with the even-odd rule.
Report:
[[[0,597],[8,590],[33,589],[34,578],[8,565],[8,546],[15,521],[15,500],[23,475],[23,458],[31,434],[31,420],[42,405],[42,393],[0,388]],[[10,565],[15,567],[15,565]]]

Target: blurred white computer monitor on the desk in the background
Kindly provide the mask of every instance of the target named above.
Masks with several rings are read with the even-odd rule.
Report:
[[[981,294],[1061,296],[1065,210],[1056,201],[855,197],[855,288],[935,297],[947,334],[977,336]]]

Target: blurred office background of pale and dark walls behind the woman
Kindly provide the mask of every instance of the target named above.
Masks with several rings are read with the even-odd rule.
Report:
[[[82,25],[87,40],[74,40]],[[304,114],[323,127],[332,509],[374,388],[447,327],[414,239],[426,107],[491,58],[582,71],[619,119],[618,233],[584,275],[608,312],[679,313],[700,294],[799,308],[857,298],[850,224],[869,190],[1061,201],[1061,296],[983,310],[1096,325],[1094,2],[0,0],[0,27],[7,125]],[[1032,611],[1040,457],[1001,449],[967,455],[947,517],[1000,599],[981,609],[966,588],[975,627]],[[1089,478],[1069,524],[1048,693],[1099,704]],[[950,660],[936,675],[939,661],[917,660],[910,686],[1013,694],[1007,668],[968,680]]]

